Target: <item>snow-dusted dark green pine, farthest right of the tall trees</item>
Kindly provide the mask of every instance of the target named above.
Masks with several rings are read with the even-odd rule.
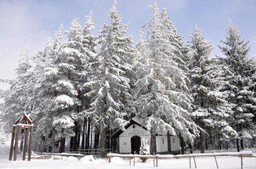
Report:
[[[256,111],[255,90],[253,90],[256,62],[248,58],[249,41],[245,42],[241,39],[239,28],[233,25],[231,20],[225,37],[225,40],[221,40],[224,46],[218,47],[226,56],[224,60],[233,76],[227,76],[228,85],[223,90],[228,94],[227,101],[234,111],[229,124],[238,133],[236,142],[237,150],[240,151],[239,140],[243,149],[243,138],[252,138],[252,134],[255,134],[252,118]]]

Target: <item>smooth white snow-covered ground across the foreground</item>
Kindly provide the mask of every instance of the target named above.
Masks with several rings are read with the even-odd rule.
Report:
[[[111,163],[108,159],[91,160],[91,157],[84,157],[80,161],[74,157],[63,158],[63,160],[36,160],[9,161],[10,144],[0,144],[0,169],[148,169],[154,168],[153,159],[149,159],[146,163],[142,163],[140,159],[136,159],[135,166],[133,161],[129,165],[129,159],[112,158]],[[255,149],[253,149],[255,152]],[[256,153],[255,153],[256,155]],[[216,169],[215,159],[213,157],[195,158],[198,169]],[[217,157],[219,169],[241,169],[241,160],[237,157]],[[192,159],[192,168],[195,168]],[[256,158],[243,158],[244,169],[256,169]],[[168,159],[159,160],[159,169],[189,169],[189,159]]]

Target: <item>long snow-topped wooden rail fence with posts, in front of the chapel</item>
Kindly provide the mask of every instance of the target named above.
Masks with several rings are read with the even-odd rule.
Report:
[[[189,168],[191,168],[191,158],[194,159],[195,157],[214,157],[216,166],[218,168],[218,163],[216,157],[218,156],[235,156],[241,158],[241,169],[243,169],[243,157],[256,157],[256,155],[253,155],[251,151],[242,151],[242,152],[214,152],[214,153],[204,153],[204,154],[186,154],[186,155],[132,155],[132,154],[116,154],[116,153],[108,153],[107,156],[109,157],[108,162],[111,163],[112,157],[126,157],[130,159],[130,165],[131,165],[131,158],[134,158],[134,166],[135,166],[135,157],[138,158],[153,158],[154,159],[154,166],[155,166],[155,159],[156,159],[156,166],[158,166],[158,159],[169,159],[169,158],[189,158]],[[196,163],[195,163],[195,168]]]

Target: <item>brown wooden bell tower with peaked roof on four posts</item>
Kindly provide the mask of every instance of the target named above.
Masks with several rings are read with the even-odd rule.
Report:
[[[25,138],[24,138],[25,140],[24,140],[24,149],[23,149],[23,158],[22,159],[23,160],[26,159],[28,137],[29,137],[29,158],[28,158],[28,160],[30,161],[30,159],[31,159],[33,124],[32,124],[32,120],[26,115],[26,113],[24,113],[19,119],[17,119],[17,121],[13,125],[12,142],[11,142],[9,161],[12,161],[13,149],[15,149],[13,161],[17,160],[18,142],[19,142],[19,135],[20,135],[21,129],[25,130]],[[29,136],[29,129],[30,129],[30,136]],[[15,133],[16,133],[16,138],[15,138]],[[14,140],[15,140],[15,146],[13,146]]]

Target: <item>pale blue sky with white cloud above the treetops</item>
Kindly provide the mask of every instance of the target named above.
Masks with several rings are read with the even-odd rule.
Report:
[[[155,0],[118,0],[117,8],[122,13],[122,23],[129,23],[128,33],[133,32],[134,41],[138,39],[140,25],[148,22],[151,11],[148,5]],[[250,56],[256,56],[256,0],[157,0],[159,8],[166,7],[170,20],[178,31],[189,40],[188,35],[195,25],[207,34],[212,41],[212,56],[222,56],[217,45],[224,39],[228,19],[239,26],[242,37],[250,40]],[[26,45],[30,56],[40,51],[48,37],[54,38],[54,32],[61,23],[64,29],[79,18],[84,25],[85,15],[93,10],[95,31],[103,23],[109,23],[106,14],[113,0],[0,0],[0,78],[14,78],[17,68],[17,52]],[[0,87],[5,88],[3,84]]]

